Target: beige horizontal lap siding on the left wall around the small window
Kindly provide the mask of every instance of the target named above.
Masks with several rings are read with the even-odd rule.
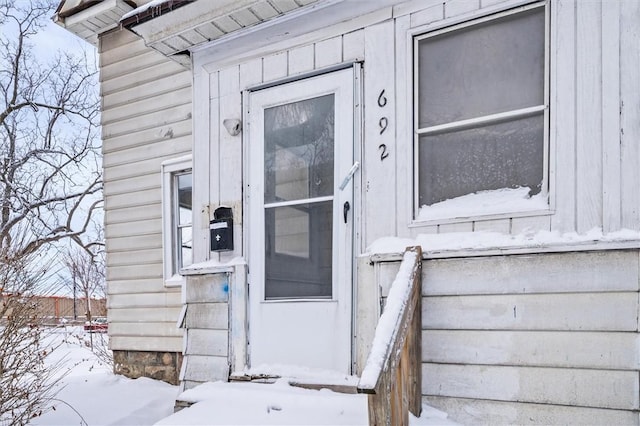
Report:
[[[163,283],[163,161],[191,151],[191,75],[128,31],[100,45],[109,331],[114,350],[182,351]]]

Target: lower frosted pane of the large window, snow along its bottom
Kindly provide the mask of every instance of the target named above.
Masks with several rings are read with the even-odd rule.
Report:
[[[506,123],[420,137],[420,205],[478,191],[529,187],[540,192],[542,114]]]

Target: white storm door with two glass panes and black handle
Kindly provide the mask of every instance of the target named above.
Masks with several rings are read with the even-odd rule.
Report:
[[[347,69],[250,94],[253,368],[349,373],[353,93]]]

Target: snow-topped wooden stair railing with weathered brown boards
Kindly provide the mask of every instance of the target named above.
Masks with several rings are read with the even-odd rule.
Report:
[[[422,249],[409,247],[378,321],[358,392],[370,425],[408,425],[422,408]]]

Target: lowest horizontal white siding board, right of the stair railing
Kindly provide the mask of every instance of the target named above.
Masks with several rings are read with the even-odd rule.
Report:
[[[637,425],[633,411],[430,396],[425,403],[461,424]]]

